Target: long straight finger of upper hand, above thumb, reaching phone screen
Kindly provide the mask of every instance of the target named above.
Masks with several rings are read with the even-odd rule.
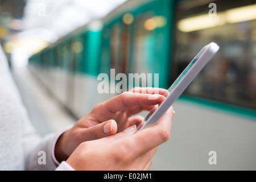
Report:
[[[149,99],[151,98],[151,99]],[[152,99],[154,98],[154,99]],[[164,97],[159,94],[142,94],[133,92],[123,92],[118,96],[104,102],[102,105],[110,113],[123,111],[133,106],[151,106],[159,104],[164,100]]]

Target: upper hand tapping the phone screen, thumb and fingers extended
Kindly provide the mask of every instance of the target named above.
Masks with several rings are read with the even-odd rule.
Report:
[[[143,118],[131,116],[143,110],[150,111],[164,100],[166,91],[159,88],[134,88],[98,104],[57,140],[56,159],[59,162],[66,160],[82,142],[114,135],[131,125],[138,126]]]

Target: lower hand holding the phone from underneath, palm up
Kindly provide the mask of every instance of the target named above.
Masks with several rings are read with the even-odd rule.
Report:
[[[66,161],[75,170],[147,170],[159,144],[170,138],[172,107],[159,122],[136,133],[121,133],[81,143]]]

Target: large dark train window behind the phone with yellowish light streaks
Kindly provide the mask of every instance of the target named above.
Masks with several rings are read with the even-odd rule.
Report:
[[[220,51],[184,93],[256,110],[255,1],[213,1],[216,12],[202,2],[176,4],[172,81],[203,46],[216,42]]]

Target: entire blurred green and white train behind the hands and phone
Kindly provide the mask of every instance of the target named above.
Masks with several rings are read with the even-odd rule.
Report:
[[[130,0],[31,56],[29,68],[81,118],[118,94],[98,92],[101,73],[156,73],[153,86],[168,88],[203,46],[216,42],[220,50],[174,103],[171,138],[150,169],[255,170],[255,12],[251,0]]]

